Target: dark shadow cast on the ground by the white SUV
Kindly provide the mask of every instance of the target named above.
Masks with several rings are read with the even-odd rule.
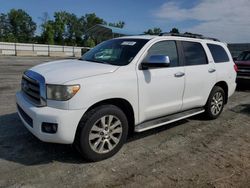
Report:
[[[182,120],[142,133],[133,133],[127,143],[171,129],[187,121]],[[24,127],[17,113],[0,116],[0,159],[26,166],[53,161],[72,164],[89,163],[71,145],[45,143],[37,139]]]

